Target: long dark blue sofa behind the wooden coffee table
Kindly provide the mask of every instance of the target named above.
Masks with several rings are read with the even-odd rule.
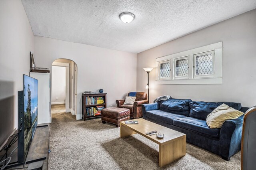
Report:
[[[142,105],[143,119],[186,134],[186,142],[209,150],[229,160],[241,149],[243,116],[225,121],[222,128],[210,128],[206,117],[225,103],[245,113],[241,103],[202,102],[190,99],[168,99]]]

